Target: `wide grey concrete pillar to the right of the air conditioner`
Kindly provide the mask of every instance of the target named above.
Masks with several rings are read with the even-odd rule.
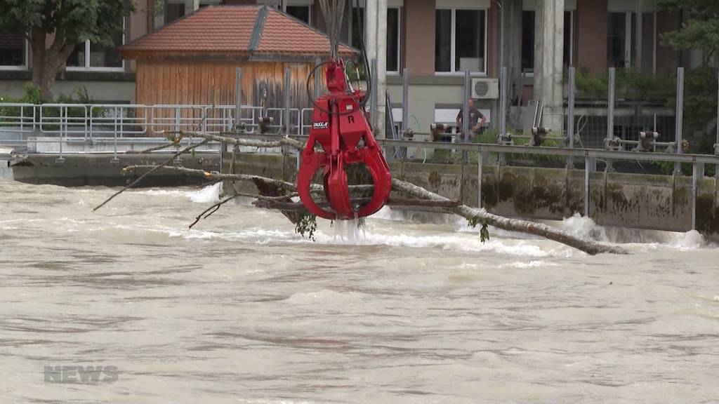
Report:
[[[543,126],[562,133],[564,0],[537,0],[534,98],[544,101]]]

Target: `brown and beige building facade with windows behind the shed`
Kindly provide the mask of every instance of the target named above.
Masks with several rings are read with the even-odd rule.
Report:
[[[661,45],[659,35],[679,27],[685,17],[660,12],[651,0],[550,1],[564,4],[563,11],[555,12],[558,18],[551,21],[551,27],[546,27],[550,24],[547,13],[540,16],[537,12],[538,6],[544,7],[543,1],[549,0],[387,0],[385,68],[393,106],[401,101],[404,68],[410,83],[410,126],[426,132],[434,121],[454,121],[449,118],[462,104],[465,70],[472,78],[486,81],[486,86],[480,86],[485,92],[473,96],[480,99],[480,109],[493,121],[501,66],[508,68],[511,103],[521,106],[534,98],[535,84],[541,86],[547,74],[542,66],[546,69],[544,59],[549,54],[559,60],[550,64],[554,75],[570,65],[593,73],[610,67],[654,73],[679,65],[691,68],[702,61],[700,53],[675,52]],[[358,2],[365,5],[364,0]],[[117,45],[203,6],[280,6],[280,0],[166,0],[162,9],[153,9],[154,4],[155,0],[136,0],[137,11],[124,22],[125,35],[118,38]],[[287,0],[287,12],[323,28],[316,0]],[[363,17],[364,13],[360,10],[358,14]],[[347,11],[342,31],[343,39],[354,45],[362,33],[358,14]],[[28,46],[17,33],[0,35],[0,94],[22,94],[24,82],[30,79]],[[551,53],[550,47],[554,49]],[[122,60],[115,47],[86,42],[70,56],[55,92],[70,93],[76,86],[86,86],[98,101],[132,103],[134,70],[134,62]]]

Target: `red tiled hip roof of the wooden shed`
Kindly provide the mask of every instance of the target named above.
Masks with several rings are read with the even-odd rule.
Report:
[[[269,6],[207,6],[120,48],[124,58],[163,55],[321,56],[329,37]],[[340,46],[344,56],[357,53]]]

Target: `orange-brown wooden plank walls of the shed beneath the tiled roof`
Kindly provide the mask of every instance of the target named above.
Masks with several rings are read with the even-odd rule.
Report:
[[[234,105],[237,68],[242,68],[242,104],[283,108],[285,68],[290,68],[291,105],[300,109],[311,107],[306,81],[313,63],[215,60],[137,60],[137,104]],[[260,88],[267,88],[266,98],[260,96]],[[310,88],[313,91],[314,81]],[[169,109],[155,110],[155,117],[165,117],[168,123],[174,114]],[[203,112],[183,110],[181,115],[199,121]],[[220,115],[221,111],[214,111],[209,117]]]

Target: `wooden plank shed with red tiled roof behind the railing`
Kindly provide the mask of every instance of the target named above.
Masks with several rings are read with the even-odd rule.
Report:
[[[308,74],[329,56],[329,37],[271,6],[207,6],[121,51],[137,61],[137,104],[234,105],[242,68],[242,104],[282,107],[290,68],[291,104],[305,108]],[[358,54],[346,45],[339,52]]]

